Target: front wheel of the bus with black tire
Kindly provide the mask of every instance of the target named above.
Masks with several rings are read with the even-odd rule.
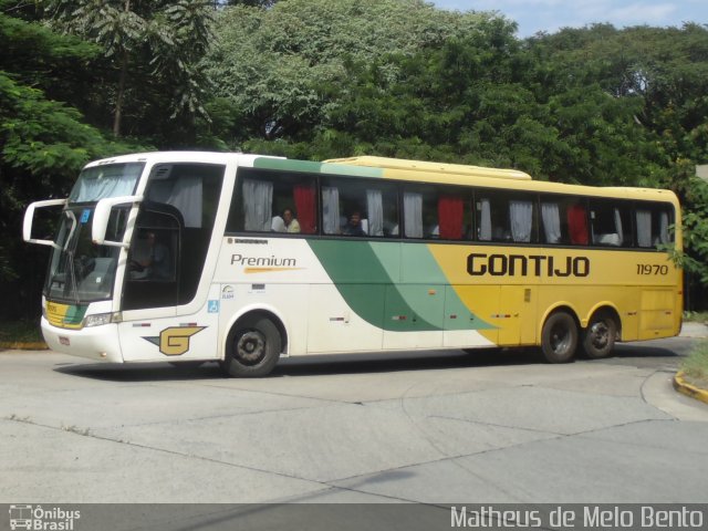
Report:
[[[229,333],[221,367],[229,376],[266,376],[280,358],[281,344],[280,332],[270,319],[243,321]]]

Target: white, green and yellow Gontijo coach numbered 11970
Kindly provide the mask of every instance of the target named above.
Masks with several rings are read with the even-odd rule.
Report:
[[[563,363],[681,325],[671,191],[512,169],[124,155],[30,205],[23,238],[52,248],[48,345],[95,361],[263,376],[281,356],[537,346]]]

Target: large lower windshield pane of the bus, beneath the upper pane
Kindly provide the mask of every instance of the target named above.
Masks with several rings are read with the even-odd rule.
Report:
[[[114,208],[106,237],[121,241],[127,208]],[[91,241],[93,208],[66,209],[56,233],[44,294],[74,303],[110,299],[119,248]],[[108,236],[110,235],[110,236]]]

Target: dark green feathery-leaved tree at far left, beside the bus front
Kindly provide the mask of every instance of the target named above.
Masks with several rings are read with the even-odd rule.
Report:
[[[61,79],[61,73],[81,73],[97,50],[6,14],[24,14],[11,11],[13,7],[0,2],[0,48],[8,52],[0,55],[0,298],[18,301],[2,306],[3,317],[18,319],[39,313],[41,262],[46,258],[41,249],[21,241],[28,202],[65,197],[90,158],[137,147],[107,140],[83,123],[76,108],[37,88],[79,93],[76,86],[70,90],[72,81]],[[77,79],[80,83],[85,74]]]

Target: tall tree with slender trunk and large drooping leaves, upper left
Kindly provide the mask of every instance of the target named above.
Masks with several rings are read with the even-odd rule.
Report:
[[[158,106],[171,118],[186,116],[191,122],[206,115],[207,82],[199,61],[209,43],[209,1],[50,0],[46,13],[56,28],[100,44],[111,60],[117,74],[114,136],[123,131],[127,95],[135,105],[140,101],[135,96],[146,88],[154,97],[168,95]],[[143,111],[148,106],[143,100]]]

